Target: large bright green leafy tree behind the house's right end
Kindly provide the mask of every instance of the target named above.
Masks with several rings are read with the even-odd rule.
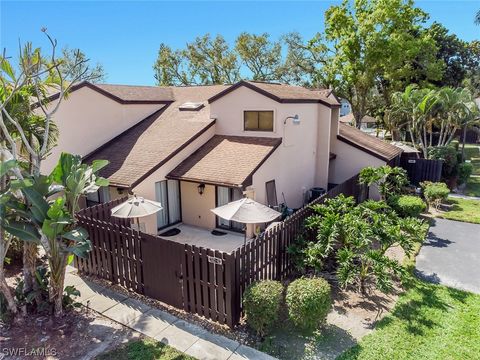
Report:
[[[325,35],[310,43],[322,65],[316,80],[350,102],[358,127],[376,91],[388,99],[417,72],[438,72],[426,56],[435,44],[421,36],[426,19],[412,0],[344,0],[325,13]]]

